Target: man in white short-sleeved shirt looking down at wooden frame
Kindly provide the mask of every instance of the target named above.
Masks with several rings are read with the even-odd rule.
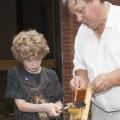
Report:
[[[92,120],[120,120],[120,7],[104,0],[68,0],[81,23],[70,87],[91,85]]]

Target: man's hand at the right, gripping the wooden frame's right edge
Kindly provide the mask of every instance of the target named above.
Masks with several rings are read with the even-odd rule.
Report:
[[[115,85],[114,75],[112,73],[104,73],[98,75],[91,83],[94,92],[103,92]]]

